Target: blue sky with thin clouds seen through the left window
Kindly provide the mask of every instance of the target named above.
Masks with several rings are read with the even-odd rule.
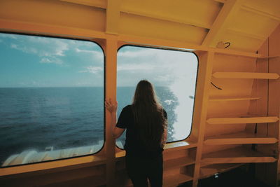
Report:
[[[104,54],[90,41],[0,34],[0,88],[104,85]]]

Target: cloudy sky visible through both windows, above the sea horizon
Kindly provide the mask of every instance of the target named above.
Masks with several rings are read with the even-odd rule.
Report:
[[[0,88],[104,85],[104,53],[90,41],[0,33],[0,56]],[[141,79],[193,84],[196,69],[193,53],[134,46],[118,51],[118,86]]]

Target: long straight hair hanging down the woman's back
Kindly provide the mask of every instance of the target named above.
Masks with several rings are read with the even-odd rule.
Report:
[[[144,146],[149,151],[162,146],[167,119],[158,102],[153,84],[149,81],[142,80],[137,84],[132,110],[137,132],[139,132],[139,138]]]

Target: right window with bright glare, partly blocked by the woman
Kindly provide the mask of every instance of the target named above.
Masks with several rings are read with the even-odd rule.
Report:
[[[197,56],[194,53],[123,46],[118,51],[118,115],[132,97],[141,79],[151,81],[159,100],[167,111],[167,141],[186,139],[193,121],[197,79]],[[117,141],[123,148],[125,135]]]

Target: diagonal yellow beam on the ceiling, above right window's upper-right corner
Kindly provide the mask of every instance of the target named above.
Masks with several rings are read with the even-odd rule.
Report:
[[[221,39],[224,34],[225,29],[231,23],[237,10],[240,8],[241,0],[228,0],[225,1],[222,10],[218,14],[214,24],[212,25],[210,31],[202,42],[202,46],[213,46]]]

